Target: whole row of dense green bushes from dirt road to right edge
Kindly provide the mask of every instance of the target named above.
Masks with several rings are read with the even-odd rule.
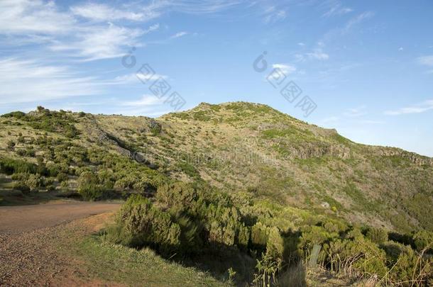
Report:
[[[318,263],[346,276],[410,286],[414,276],[426,283],[432,275],[431,259],[389,242],[385,230],[361,230],[312,215],[293,227],[297,230],[285,229],[295,226],[286,221],[292,216],[278,205],[253,203],[242,193],[228,196],[203,183],[163,184],[154,198],[129,198],[106,238],[131,247],[153,247],[170,257],[246,252],[258,260],[255,279],[271,285],[302,257],[308,260],[314,244],[322,246]],[[420,248],[429,242],[422,232],[413,237]]]

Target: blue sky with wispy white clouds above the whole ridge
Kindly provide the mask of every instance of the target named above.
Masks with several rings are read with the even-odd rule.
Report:
[[[163,79],[182,109],[265,103],[356,142],[433,156],[432,15],[428,0],[1,0],[0,113],[160,116],[173,107],[149,86]],[[155,72],[146,84],[142,64]],[[307,118],[267,81],[274,68],[317,105]]]

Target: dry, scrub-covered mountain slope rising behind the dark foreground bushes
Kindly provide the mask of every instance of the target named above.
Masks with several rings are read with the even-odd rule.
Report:
[[[38,157],[47,163],[48,154],[59,157],[55,149],[62,147],[97,150],[135,160],[161,178],[205,181],[230,193],[390,231],[433,230],[432,158],[361,145],[262,104],[200,103],[155,119],[38,107],[6,114],[0,125],[5,158],[37,164]],[[97,169],[87,157],[78,152],[66,169]],[[70,174],[67,187],[76,188],[76,179]]]

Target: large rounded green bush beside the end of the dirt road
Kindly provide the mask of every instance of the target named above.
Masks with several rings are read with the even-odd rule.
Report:
[[[179,183],[160,186],[155,200],[155,203],[150,203],[143,197],[134,196],[128,200],[127,208],[121,210],[116,230],[127,230],[129,233],[124,237],[130,238],[133,246],[142,247],[152,242],[152,237],[148,236],[153,235],[145,234],[147,229],[131,228],[131,222],[140,218],[136,212],[141,210],[141,216],[146,220],[151,215],[160,220],[158,226],[164,225],[166,230],[172,230],[167,234],[157,234],[158,240],[150,244],[157,245],[157,249],[168,249],[167,242],[171,242],[170,248],[182,254],[212,252],[215,248],[248,247],[250,227],[243,222],[239,210],[227,196],[220,195],[218,200],[215,194],[199,191],[191,184]],[[131,207],[134,205],[136,207]],[[175,239],[177,227],[179,233]]]

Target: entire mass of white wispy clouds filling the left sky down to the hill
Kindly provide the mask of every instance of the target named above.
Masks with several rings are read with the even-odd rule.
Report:
[[[85,1],[68,6],[49,0],[0,0],[1,45],[32,45],[26,55],[0,58],[0,103],[32,103],[73,96],[103,94],[109,85],[140,83],[133,74],[101,79],[77,72],[75,64],[124,55],[128,47],[145,45],[144,36],[159,24],[143,27],[165,13],[217,13],[240,1],[129,1],[120,5]],[[186,32],[176,34],[181,37]],[[22,51],[22,50],[21,50]],[[50,57],[35,57],[48,55]],[[25,60],[23,60],[25,59]],[[163,75],[155,75],[163,77]]]

